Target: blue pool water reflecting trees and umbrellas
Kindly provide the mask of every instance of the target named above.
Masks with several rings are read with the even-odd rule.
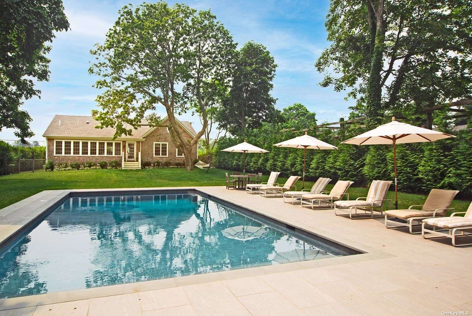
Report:
[[[196,194],[72,197],[4,249],[0,298],[346,255],[302,239]]]

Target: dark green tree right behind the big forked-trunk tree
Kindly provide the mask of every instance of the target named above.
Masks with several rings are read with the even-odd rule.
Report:
[[[223,100],[224,111],[219,112],[222,128],[244,137],[246,127],[258,128],[270,119],[277,101],[270,95],[276,68],[264,45],[252,41],[244,44],[238,51],[231,89]]]

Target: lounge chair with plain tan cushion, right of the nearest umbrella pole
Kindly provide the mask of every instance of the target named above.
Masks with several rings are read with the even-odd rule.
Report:
[[[413,227],[421,226],[421,223],[413,224],[413,222],[421,222],[431,217],[446,216],[447,211],[454,210],[454,208],[449,206],[457,193],[459,191],[432,189],[423,205],[411,205],[407,210],[385,211],[385,227],[399,228],[406,226],[409,228],[410,233],[420,234],[421,231],[413,232]],[[413,208],[418,206],[421,206],[421,210]],[[395,220],[388,219],[388,217],[393,217]],[[389,223],[395,226],[388,226]]]

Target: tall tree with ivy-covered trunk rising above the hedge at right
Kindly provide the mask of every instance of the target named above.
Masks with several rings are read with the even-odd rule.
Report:
[[[322,86],[348,89],[354,115],[379,124],[472,94],[472,6],[468,0],[331,0],[332,44],[316,67]]]

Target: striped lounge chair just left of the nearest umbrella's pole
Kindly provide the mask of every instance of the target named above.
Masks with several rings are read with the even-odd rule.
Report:
[[[371,188],[369,188],[369,193],[366,197],[358,197],[354,200],[347,201],[336,201],[334,202],[334,214],[335,215],[347,215],[347,213],[337,214],[337,211],[340,209],[349,209],[349,218],[350,219],[360,219],[360,218],[374,218],[383,216],[383,204],[385,201],[390,201],[390,208],[392,208],[392,200],[386,199],[388,188],[392,181],[385,180],[373,180],[371,183]],[[362,201],[365,199],[365,201]],[[353,213],[354,209],[354,213]],[[362,210],[364,213],[358,214],[357,210]],[[374,212],[379,212],[379,215],[374,216]],[[370,213],[369,216],[364,214]],[[353,217],[353,215],[362,215]]]

